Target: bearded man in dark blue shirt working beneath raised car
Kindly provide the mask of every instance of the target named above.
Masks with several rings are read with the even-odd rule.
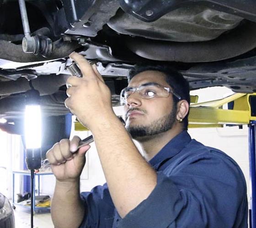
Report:
[[[83,78],[68,78],[65,104],[91,130],[107,184],[80,194],[90,146],[75,152],[77,136],[54,145],[47,158],[56,176],[55,227],[247,228],[242,171],[228,155],[187,133],[189,86],[179,73],[134,67],[121,93],[124,127],[96,67],[77,53],[70,57]]]

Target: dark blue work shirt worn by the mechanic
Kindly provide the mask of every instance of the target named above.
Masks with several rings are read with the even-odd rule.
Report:
[[[107,184],[82,192],[81,228],[247,228],[245,178],[222,151],[177,135],[149,161],[157,185],[123,219]]]

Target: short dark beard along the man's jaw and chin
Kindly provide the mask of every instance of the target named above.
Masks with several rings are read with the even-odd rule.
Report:
[[[126,126],[126,130],[130,133],[134,140],[143,140],[148,136],[158,135],[160,133],[171,130],[176,121],[177,107],[174,104],[171,112],[154,120],[148,125],[138,124],[135,126]]]

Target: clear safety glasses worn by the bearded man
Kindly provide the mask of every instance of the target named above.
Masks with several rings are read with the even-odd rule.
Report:
[[[181,100],[181,96],[171,88],[161,86],[158,83],[145,83],[138,87],[126,87],[121,91],[120,103],[126,104],[129,96],[135,92],[139,93],[139,96],[144,99],[150,98],[167,98],[169,93],[172,93],[178,100]]]

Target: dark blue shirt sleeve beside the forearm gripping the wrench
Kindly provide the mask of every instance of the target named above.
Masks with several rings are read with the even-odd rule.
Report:
[[[82,192],[80,196],[85,206],[85,216],[80,228],[105,227],[106,225],[106,227],[112,227],[115,207],[107,184],[96,186],[91,192]]]

